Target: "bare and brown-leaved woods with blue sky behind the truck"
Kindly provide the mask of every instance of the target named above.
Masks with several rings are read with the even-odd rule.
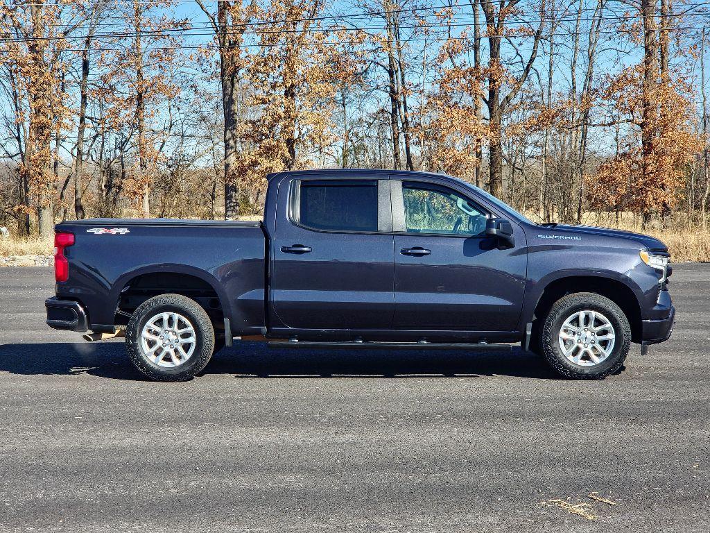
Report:
[[[710,2],[4,0],[0,256],[84,217],[259,217],[403,168],[710,260]]]

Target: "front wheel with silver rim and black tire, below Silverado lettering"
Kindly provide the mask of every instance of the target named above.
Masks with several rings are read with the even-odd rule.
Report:
[[[631,328],[621,308],[589,292],[559,298],[540,333],[540,352],[569,379],[603,379],[618,372],[631,347]]]

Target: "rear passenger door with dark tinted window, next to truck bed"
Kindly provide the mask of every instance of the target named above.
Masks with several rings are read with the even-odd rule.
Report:
[[[386,179],[329,173],[280,183],[271,271],[274,322],[308,330],[391,328],[390,202]]]

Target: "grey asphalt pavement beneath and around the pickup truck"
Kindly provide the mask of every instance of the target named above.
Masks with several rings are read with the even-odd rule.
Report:
[[[0,269],[1,531],[710,530],[710,264],[676,267],[672,339],[602,382],[252,343],[151,383],[121,341],[45,327],[52,276]]]

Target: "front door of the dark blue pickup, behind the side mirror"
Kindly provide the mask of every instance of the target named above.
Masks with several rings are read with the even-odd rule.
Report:
[[[402,330],[514,331],[523,305],[525,236],[498,249],[486,219],[500,216],[463,190],[392,181],[395,321]],[[479,199],[480,200],[480,199]]]

